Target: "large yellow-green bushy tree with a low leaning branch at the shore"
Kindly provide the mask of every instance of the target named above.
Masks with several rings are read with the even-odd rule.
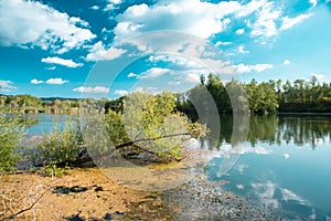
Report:
[[[124,156],[146,152],[167,161],[180,159],[190,138],[205,136],[207,131],[205,126],[193,124],[175,112],[175,96],[169,92],[158,95],[132,93],[122,101],[121,112],[109,109],[89,122],[87,134],[96,133],[103,122],[108,133],[107,136],[97,133],[94,138],[86,137],[95,155],[108,155],[117,149]]]

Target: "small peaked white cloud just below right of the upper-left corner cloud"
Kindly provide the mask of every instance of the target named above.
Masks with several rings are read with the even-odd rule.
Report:
[[[120,57],[126,50],[117,49],[111,46],[110,49],[106,50],[103,42],[98,41],[95,45],[89,50],[89,53],[85,57],[86,61],[104,61],[104,60],[115,60]]]

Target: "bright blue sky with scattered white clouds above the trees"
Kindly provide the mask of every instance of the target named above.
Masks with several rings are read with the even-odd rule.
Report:
[[[169,30],[213,44],[235,70],[221,75],[224,80],[316,75],[330,82],[330,0],[0,0],[1,93],[116,97],[139,90],[184,91],[210,72],[207,53],[203,64],[180,54],[141,53],[147,45],[172,45],[148,35],[136,48],[122,46],[140,34]],[[115,71],[121,56],[136,52],[140,60]]]

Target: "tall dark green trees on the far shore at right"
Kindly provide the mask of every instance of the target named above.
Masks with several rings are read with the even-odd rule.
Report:
[[[200,84],[184,94],[178,95],[179,110],[197,117],[195,104],[204,104],[203,88],[206,88],[213,97],[220,114],[231,114],[233,112],[234,101],[231,101],[228,93],[234,88],[245,91],[238,93],[235,97],[237,104],[245,106],[243,97],[248,98],[249,112],[252,114],[274,114],[277,112],[313,112],[313,113],[331,113],[331,83],[319,83],[316,76],[310,81],[296,80],[293,83],[281,80],[258,83],[252,80],[249,83],[243,84],[236,80],[223,83],[216,75],[210,74],[207,78],[201,76]],[[197,101],[197,102],[196,102]],[[241,104],[242,102],[242,104]],[[195,105],[196,106],[196,105]]]

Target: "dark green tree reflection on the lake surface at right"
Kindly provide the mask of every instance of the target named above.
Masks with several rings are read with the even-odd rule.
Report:
[[[239,119],[241,120],[241,119]],[[309,144],[316,148],[318,144],[330,143],[331,140],[331,116],[305,116],[305,115],[266,115],[252,116],[249,122],[242,122],[237,127],[239,133],[245,133],[248,127],[247,141],[255,147],[258,143],[277,144],[296,144],[303,146]],[[233,117],[221,116],[221,136],[218,139],[210,139],[202,144],[218,147],[222,144],[236,145],[243,140],[237,140],[233,135]],[[213,137],[213,136],[211,136]],[[206,144],[207,143],[207,144]]]

